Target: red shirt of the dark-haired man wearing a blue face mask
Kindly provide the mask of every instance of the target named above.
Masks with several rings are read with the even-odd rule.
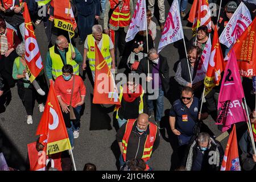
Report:
[[[73,97],[72,97],[72,106],[75,106],[78,102],[81,101],[81,96],[85,96],[86,88],[82,78],[77,75],[75,76],[75,85],[73,89]],[[69,81],[65,81],[63,76],[59,76],[55,80],[54,88],[57,94],[57,97],[61,97],[65,104],[69,105],[71,100],[71,92],[73,87],[73,79]]]

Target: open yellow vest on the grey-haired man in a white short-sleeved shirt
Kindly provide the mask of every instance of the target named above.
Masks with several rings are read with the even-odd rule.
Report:
[[[109,69],[111,68],[112,58],[110,56],[110,42],[109,36],[102,34],[102,45],[101,45],[101,54],[104,57],[106,63],[108,64]],[[95,71],[95,40],[93,35],[88,35],[88,52],[87,57],[89,59],[89,66],[91,71]]]

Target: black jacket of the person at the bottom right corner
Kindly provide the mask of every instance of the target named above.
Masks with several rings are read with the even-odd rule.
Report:
[[[251,138],[249,137],[248,131],[242,135],[242,138],[239,141],[240,146],[240,163],[241,168],[245,171],[255,171],[256,163],[253,160],[253,146],[251,144]]]

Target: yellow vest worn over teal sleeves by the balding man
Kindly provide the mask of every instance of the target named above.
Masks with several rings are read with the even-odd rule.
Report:
[[[58,76],[62,75],[62,68],[63,68],[63,61],[61,60],[60,55],[54,52],[54,47],[52,46],[49,48],[49,56],[52,60],[52,76],[54,79],[56,79]],[[74,50],[74,47],[72,46],[72,49]],[[68,44],[68,52],[66,53],[66,61],[67,64],[72,65],[73,67],[73,74],[79,75],[79,65],[76,63],[75,60],[72,59],[72,53],[71,53],[71,47],[70,44]]]

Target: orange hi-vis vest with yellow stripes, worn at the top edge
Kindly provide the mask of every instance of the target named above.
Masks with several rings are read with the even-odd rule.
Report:
[[[116,3],[114,0],[110,0],[110,9],[114,9],[117,4],[118,3]],[[124,0],[122,9],[120,10],[118,5],[118,7],[113,11],[109,24],[113,27],[127,27],[129,26],[130,19],[130,0]]]

